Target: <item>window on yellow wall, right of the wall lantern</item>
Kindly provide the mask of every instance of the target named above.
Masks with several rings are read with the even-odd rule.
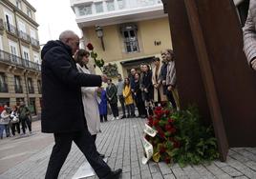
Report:
[[[138,52],[137,26],[124,26],[121,28],[126,52]]]

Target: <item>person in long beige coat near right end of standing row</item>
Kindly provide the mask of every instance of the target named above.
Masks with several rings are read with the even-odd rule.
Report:
[[[159,57],[154,58],[154,67],[152,69],[152,84],[154,86],[154,102],[160,104],[166,102],[166,95],[163,94],[163,87],[160,79],[161,62]]]

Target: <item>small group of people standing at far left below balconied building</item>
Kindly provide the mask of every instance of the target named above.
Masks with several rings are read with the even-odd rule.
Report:
[[[27,128],[32,133],[31,111],[25,103],[20,102],[19,107],[13,106],[12,109],[4,105],[0,116],[0,138],[3,139],[4,131],[7,137],[15,136],[16,132],[21,135],[26,134]]]

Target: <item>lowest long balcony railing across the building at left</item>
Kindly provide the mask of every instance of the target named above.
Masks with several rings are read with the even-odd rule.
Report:
[[[29,60],[25,60],[23,58],[20,58],[19,56],[13,55],[3,50],[0,50],[0,61],[16,65],[18,67],[26,68],[29,70],[41,70],[41,65],[31,62]]]

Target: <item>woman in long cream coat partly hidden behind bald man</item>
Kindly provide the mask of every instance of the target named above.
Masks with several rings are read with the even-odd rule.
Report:
[[[88,70],[86,66],[89,62],[89,55],[90,53],[86,50],[78,50],[75,53],[76,68],[79,72],[91,74],[91,71]],[[97,92],[100,91],[100,88],[82,87],[81,91],[87,128],[96,143],[96,134],[100,132],[100,118],[98,110],[100,98],[97,96]],[[103,154],[98,153],[98,155],[104,157]]]

